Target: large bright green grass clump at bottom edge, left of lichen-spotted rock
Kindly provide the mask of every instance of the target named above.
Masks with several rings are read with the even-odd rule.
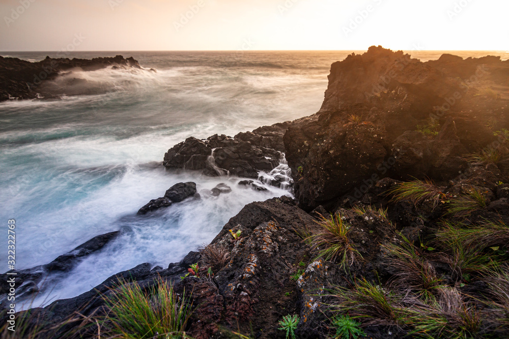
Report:
[[[106,313],[102,330],[105,337],[125,339],[187,338],[185,334],[192,305],[161,278],[145,289],[138,283],[119,281],[104,295]]]

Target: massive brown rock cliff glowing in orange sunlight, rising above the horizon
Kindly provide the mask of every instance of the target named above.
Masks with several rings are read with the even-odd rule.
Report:
[[[509,87],[499,76],[507,70],[494,57],[422,63],[380,46],[332,64],[322,108],[284,137],[299,205],[332,206],[386,176],[453,179],[469,153],[509,127]]]

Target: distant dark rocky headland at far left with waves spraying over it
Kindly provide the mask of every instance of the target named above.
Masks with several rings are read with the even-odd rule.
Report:
[[[74,69],[82,71],[95,71],[106,67],[123,67],[141,69],[138,61],[133,57],[124,58],[122,55],[115,57],[98,57],[93,59],[69,59],[50,58],[36,63],[20,60],[18,58],[0,56],[0,102],[10,99],[35,99],[44,97],[55,98],[62,94],[76,95],[88,93],[70,93],[69,90],[78,82],[86,80],[69,77],[62,86],[48,85],[64,72]],[[69,74],[68,74],[69,75]],[[46,86],[48,85],[48,86]]]

